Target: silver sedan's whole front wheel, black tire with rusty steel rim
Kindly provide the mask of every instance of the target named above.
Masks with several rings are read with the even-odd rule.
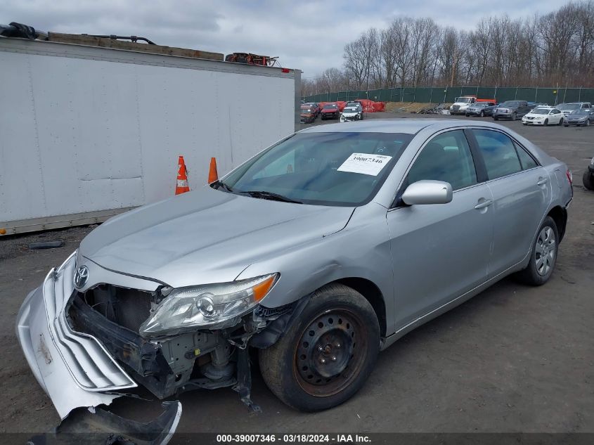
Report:
[[[285,335],[259,352],[259,363],[264,382],[281,401],[321,411],[359,391],[379,351],[371,304],[359,292],[331,284],[316,290]]]

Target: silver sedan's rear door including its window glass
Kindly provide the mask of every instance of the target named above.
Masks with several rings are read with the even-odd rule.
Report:
[[[473,129],[493,195],[493,247],[489,278],[528,254],[550,202],[550,177],[528,151],[496,129]]]

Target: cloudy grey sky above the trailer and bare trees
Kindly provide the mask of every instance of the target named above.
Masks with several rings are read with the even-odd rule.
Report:
[[[541,13],[565,2],[538,0]],[[342,66],[345,43],[399,15],[431,17],[440,25],[472,29],[488,15],[534,14],[518,0],[0,0],[0,23],[41,31],[148,37],[157,44],[218,53],[280,56],[281,65],[315,77]]]

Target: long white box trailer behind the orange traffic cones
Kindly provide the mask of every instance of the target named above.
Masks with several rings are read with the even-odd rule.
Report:
[[[297,128],[301,72],[0,37],[0,235],[91,224]],[[2,230],[4,229],[4,230]]]

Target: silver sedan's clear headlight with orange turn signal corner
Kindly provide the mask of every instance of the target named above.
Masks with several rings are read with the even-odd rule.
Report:
[[[231,283],[174,289],[142,323],[140,334],[149,337],[220,328],[225,321],[253,309],[266,297],[277,278],[278,273],[271,273]]]

